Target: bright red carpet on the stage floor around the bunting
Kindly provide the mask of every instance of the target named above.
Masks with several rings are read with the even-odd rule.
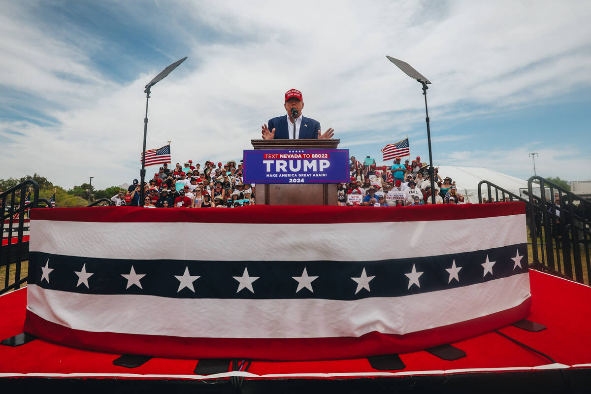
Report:
[[[500,331],[564,364],[563,368],[591,367],[591,288],[538,271],[530,271],[532,313],[530,320],[546,325],[547,330],[530,333],[515,327]],[[0,297],[0,338],[22,332],[25,318],[26,289]],[[453,344],[467,357],[455,361],[438,359],[426,351],[401,354],[405,369],[384,372],[373,369],[368,360],[326,362],[254,361],[246,374],[232,372],[222,376],[246,376],[246,379],[314,377],[316,379],[363,376],[451,375],[465,372],[496,372],[556,368],[551,362],[524,349],[497,333],[488,333]],[[73,349],[35,340],[20,347],[0,346],[0,377],[128,377],[129,379],[202,379],[193,370],[197,360],[154,358],[135,369],[113,366],[119,354]],[[544,367],[545,366],[545,367]],[[61,375],[79,374],[79,375]],[[55,375],[54,375],[55,376]],[[212,377],[212,376],[210,376]]]

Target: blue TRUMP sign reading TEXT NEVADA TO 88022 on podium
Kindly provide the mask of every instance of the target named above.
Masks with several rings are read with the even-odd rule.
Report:
[[[342,183],[349,181],[349,149],[244,151],[244,183]]]

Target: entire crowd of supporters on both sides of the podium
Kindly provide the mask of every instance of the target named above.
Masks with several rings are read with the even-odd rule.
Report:
[[[431,204],[465,204],[465,196],[457,193],[452,178],[441,178],[439,168],[434,169],[435,188],[431,190],[428,165],[415,160],[394,159],[391,166],[378,167],[375,160],[363,163],[351,157],[350,182],[337,184],[340,206],[408,206]],[[182,207],[182,208],[235,208],[255,203],[254,184],[244,183],[242,163],[235,161],[206,161],[203,167],[193,161],[177,163],[174,169],[163,164],[158,172],[144,184],[144,201],[140,201],[140,185],[134,180],[127,191],[111,198],[118,206]],[[352,197],[351,197],[352,196]]]

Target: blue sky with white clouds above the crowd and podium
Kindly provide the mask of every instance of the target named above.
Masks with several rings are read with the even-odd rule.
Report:
[[[148,149],[174,162],[239,159],[284,113],[335,128],[339,148],[381,164],[410,136],[435,164],[591,179],[589,1],[27,1],[0,10],[0,178],[69,188],[139,178],[144,85]],[[148,167],[148,175],[157,167]],[[153,173],[153,172],[152,172]]]

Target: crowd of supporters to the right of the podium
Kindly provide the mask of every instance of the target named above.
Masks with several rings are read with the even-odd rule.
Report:
[[[391,166],[378,167],[369,156],[363,162],[350,158],[350,182],[338,184],[338,203],[343,206],[407,206],[431,204],[465,204],[465,196],[457,193],[450,177],[441,178],[434,168],[434,190],[431,190],[428,164],[417,156],[412,162],[400,157]]]

